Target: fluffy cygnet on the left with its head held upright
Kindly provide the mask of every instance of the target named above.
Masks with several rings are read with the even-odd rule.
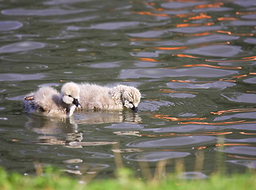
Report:
[[[25,112],[45,116],[72,116],[76,107],[80,107],[79,98],[80,88],[74,82],[64,84],[61,93],[52,87],[43,86],[25,97],[23,107]]]

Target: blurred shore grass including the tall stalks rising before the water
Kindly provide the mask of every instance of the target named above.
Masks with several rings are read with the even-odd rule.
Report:
[[[77,177],[67,175],[68,170],[54,169],[52,167],[43,167],[41,163],[35,161],[35,175],[25,176],[21,173],[9,173],[0,167],[0,189],[1,190],[159,190],[159,189],[176,189],[176,190],[241,190],[256,189],[256,173],[254,167],[248,165],[245,173],[225,172],[223,164],[223,154],[216,156],[216,170],[211,175],[206,176],[201,171],[204,167],[204,153],[198,151],[196,154],[194,172],[186,172],[184,160],[177,158],[171,160],[158,161],[156,169],[152,173],[149,168],[149,162],[140,161],[140,175],[135,171],[127,169],[123,162],[118,145],[114,145],[114,161],[117,166],[115,175],[112,178],[96,178],[100,171],[91,171],[84,169]],[[174,171],[166,172],[166,166],[172,162]]]

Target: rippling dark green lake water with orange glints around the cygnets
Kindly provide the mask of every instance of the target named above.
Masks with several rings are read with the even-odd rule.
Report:
[[[256,168],[256,2],[3,1],[0,165],[110,177],[177,160],[185,177]],[[22,112],[25,94],[64,82],[125,84],[138,114]],[[118,159],[119,158],[119,159]]]

